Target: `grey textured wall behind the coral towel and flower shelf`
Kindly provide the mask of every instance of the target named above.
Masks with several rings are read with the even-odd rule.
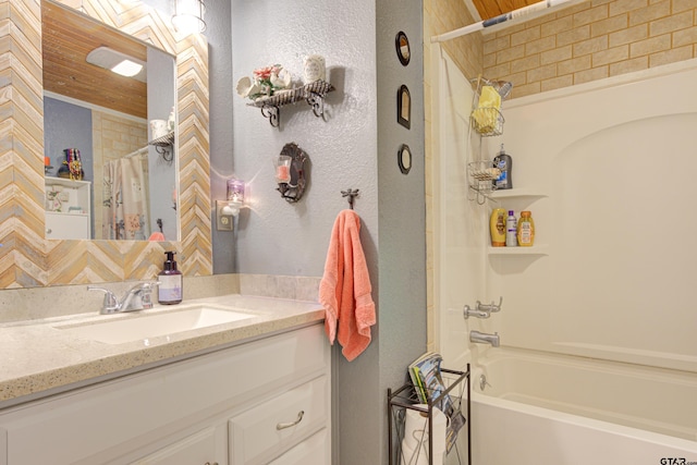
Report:
[[[426,351],[421,14],[421,2],[396,0],[232,2],[232,159],[249,193],[236,221],[235,271],[320,277],[334,219],[348,208],[341,191],[360,191],[355,210],[378,325],[352,363],[334,350],[333,445],[342,465],[384,463],[387,389],[404,382],[407,364]],[[412,44],[406,68],[395,53],[399,30]],[[301,101],[281,108],[274,129],[234,95],[235,82],[259,66],[279,63],[302,77],[310,53],[325,57],[337,87],[323,119]],[[412,97],[411,130],[396,123],[402,84]],[[309,157],[308,189],[297,204],[276,191],[272,160],[288,143]],[[408,175],[396,162],[401,144],[414,156]]]

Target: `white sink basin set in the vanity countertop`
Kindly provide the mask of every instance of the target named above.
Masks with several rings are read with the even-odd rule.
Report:
[[[148,340],[152,338],[240,321],[257,316],[211,305],[196,305],[156,314],[129,313],[124,315],[129,317],[56,328],[80,338],[107,344],[144,341],[147,345],[149,343]]]

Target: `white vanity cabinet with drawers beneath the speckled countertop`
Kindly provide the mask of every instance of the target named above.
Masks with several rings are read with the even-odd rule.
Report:
[[[313,325],[0,411],[0,465],[328,464],[330,397]]]

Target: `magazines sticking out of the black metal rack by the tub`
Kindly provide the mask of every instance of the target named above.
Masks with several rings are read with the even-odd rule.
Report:
[[[433,403],[433,406],[438,407],[448,417],[445,443],[447,451],[450,452],[457,440],[457,431],[465,425],[465,417],[460,408],[455,406],[450,394],[443,395],[448,388],[440,371],[442,359],[443,357],[440,354],[429,352],[414,360],[408,370],[414,383],[414,390],[421,403],[433,402],[442,395],[442,399],[438,403]]]

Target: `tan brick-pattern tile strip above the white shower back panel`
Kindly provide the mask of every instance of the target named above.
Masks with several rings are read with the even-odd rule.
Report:
[[[696,57],[697,0],[591,0],[484,36],[513,98]]]

